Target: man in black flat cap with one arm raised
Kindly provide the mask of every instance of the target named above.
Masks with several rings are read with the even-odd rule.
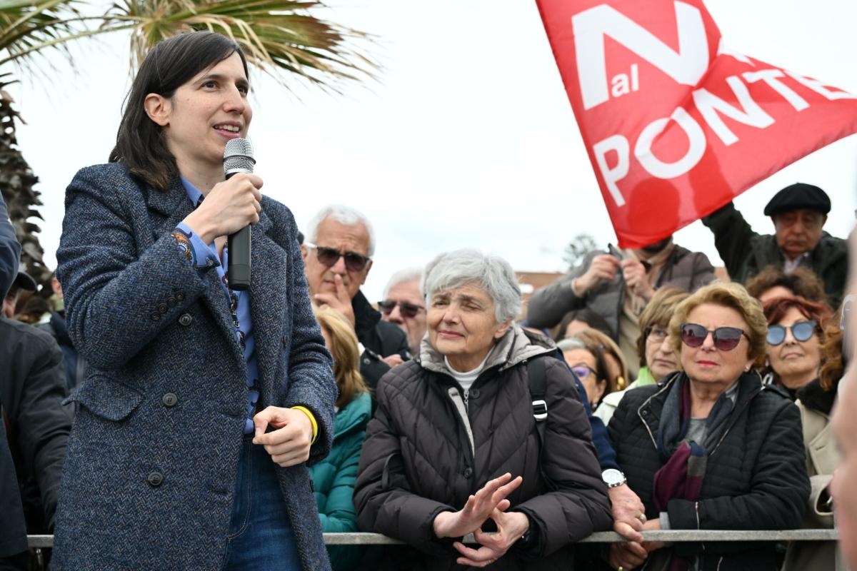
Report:
[[[848,277],[848,242],[824,231],[828,212],[830,197],[824,190],[797,182],[764,207],[774,235],[754,232],[731,202],[702,221],[714,233],[717,252],[734,282],[746,283],[768,265],[786,273],[805,266],[824,281],[830,305],[837,307]]]

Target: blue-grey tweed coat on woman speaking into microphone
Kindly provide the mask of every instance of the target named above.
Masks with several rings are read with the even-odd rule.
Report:
[[[251,314],[260,410],[308,407],[333,440],[332,360],[313,317],[291,211],[263,198]],[[246,364],[217,272],[171,239],[191,211],[181,184],[147,187],[120,164],[75,175],[57,276],[69,335],[91,368],[70,397],[54,568],[219,569],[247,403]],[[306,465],[277,467],[306,569],[328,569]],[[160,477],[159,477],[160,476]]]

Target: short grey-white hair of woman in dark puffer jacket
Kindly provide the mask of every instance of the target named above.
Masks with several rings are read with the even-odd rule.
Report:
[[[514,319],[521,312],[521,288],[512,266],[494,254],[465,248],[441,253],[426,265],[422,290],[426,305],[440,289],[458,288],[477,283],[494,300],[498,323]]]

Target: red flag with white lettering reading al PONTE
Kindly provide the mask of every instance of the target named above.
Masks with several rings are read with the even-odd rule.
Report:
[[[857,132],[857,95],[730,52],[702,0],[536,0],[622,247]]]

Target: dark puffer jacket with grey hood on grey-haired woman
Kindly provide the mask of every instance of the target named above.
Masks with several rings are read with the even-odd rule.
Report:
[[[461,568],[452,542],[435,538],[434,516],[461,509],[489,479],[509,472],[524,477],[509,500],[512,510],[529,516],[536,539],[529,550],[512,546],[488,568],[572,569],[570,544],[611,526],[610,503],[572,373],[550,357],[539,357],[545,360],[548,403],[539,470],[526,362],[549,350],[513,328],[470,387],[466,405],[461,386],[428,341],[417,360],[387,373],[357,474],[360,528],[422,551],[411,553],[408,568]],[[547,491],[545,477],[556,491]]]

